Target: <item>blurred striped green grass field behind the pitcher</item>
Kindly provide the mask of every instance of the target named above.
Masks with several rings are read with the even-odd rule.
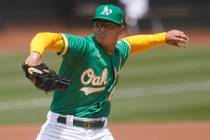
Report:
[[[0,124],[45,121],[51,95],[25,79],[23,52],[0,53]],[[61,58],[45,61],[58,70]],[[112,99],[111,121],[210,121],[210,46],[162,47],[130,56]]]

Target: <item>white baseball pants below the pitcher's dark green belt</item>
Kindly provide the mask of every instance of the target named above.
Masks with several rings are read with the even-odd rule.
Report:
[[[47,114],[47,121],[42,126],[36,140],[114,140],[105,125],[99,129],[87,129],[73,126],[73,116],[67,115],[66,124],[57,122],[59,114],[51,111]]]

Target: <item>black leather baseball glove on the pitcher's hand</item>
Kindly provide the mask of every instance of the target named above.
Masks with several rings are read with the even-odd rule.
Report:
[[[25,63],[22,64],[22,69],[26,77],[33,82],[33,84],[44,90],[65,90],[68,88],[70,81],[57,75],[54,71],[50,70],[46,64],[42,63],[37,66],[29,66]]]

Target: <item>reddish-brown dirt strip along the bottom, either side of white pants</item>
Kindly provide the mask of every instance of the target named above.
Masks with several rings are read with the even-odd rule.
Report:
[[[40,125],[0,126],[2,140],[34,140]],[[209,140],[208,123],[113,123],[116,140]]]

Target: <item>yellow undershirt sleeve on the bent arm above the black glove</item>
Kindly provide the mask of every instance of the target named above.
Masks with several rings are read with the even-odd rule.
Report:
[[[67,46],[59,33],[38,33],[31,41],[31,52],[38,52],[43,55],[48,48],[58,54],[64,54],[63,51],[66,51]]]

